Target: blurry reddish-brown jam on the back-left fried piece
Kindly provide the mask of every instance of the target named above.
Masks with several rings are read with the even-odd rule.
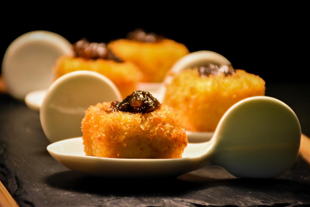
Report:
[[[106,60],[114,60],[116,62],[123,62],[111,50],[108,49],[105,43],[88,42],[86,39],[73,44],[73,51],[76,57],[96,60],[98,58]]]

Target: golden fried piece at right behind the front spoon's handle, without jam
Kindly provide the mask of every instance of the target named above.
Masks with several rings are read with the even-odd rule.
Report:
[[[200,77],[198,70],[188,69],[177,74],[167,86],[163,104],[175,110],[185,129],[213,132],[233,104],[264,94],[263,79],[244,70],[228,76]]]

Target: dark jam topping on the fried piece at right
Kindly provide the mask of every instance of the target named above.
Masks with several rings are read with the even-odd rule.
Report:
[[[198,68],[199,76],[208,75],[219,75],[224,74],[225,76],[235,74],[235,70],[232,65],[214,65],[209,63],[208,65],[200,66]]]

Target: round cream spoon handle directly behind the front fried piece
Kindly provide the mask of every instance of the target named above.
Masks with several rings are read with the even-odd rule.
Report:
[[[51,84],[42,101],[43,132],[50,142],[81,136],[85,110],[91,105],[115,100],[121,100],[121,94],[104,75],[86,70],[65,74]]]

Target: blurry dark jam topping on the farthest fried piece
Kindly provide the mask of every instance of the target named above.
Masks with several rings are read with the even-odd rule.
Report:
[[[136,29],[127,35],[127,39],[135,40],[144,43],[157,43],[160,42],[164,37],[155,33],[146,33],[142,29]]]

